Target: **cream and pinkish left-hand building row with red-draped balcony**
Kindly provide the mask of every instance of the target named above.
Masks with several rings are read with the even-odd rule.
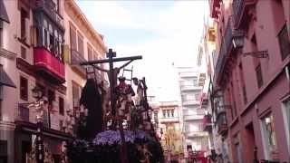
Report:
[[[70,24],[82,34],[76,51],[85,60],[104,56],[102,35],[73,0],[1,0],[0,7],[0,162],[25,162],[33,149],[35,110],[28,104],[35,101],[34,88],[46,97],[44,144],[54,162],[59,162],[63,140],[73,136],[67,121],[78,104],[73,94],[81,94],[86,79],[72,71]],[[74,20],[72,13],[78,15]],[[97,78],[103,80],[102,75]],[[73,82],[79,86],[78,93],[73,93]]]

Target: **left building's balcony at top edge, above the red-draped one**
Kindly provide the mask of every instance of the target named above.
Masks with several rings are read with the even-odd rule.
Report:
[[[63,17],[58,12],[57,5],[52,0],[39,0],[35,3],[35,11],[46,14],[54,24],[64,30]]]

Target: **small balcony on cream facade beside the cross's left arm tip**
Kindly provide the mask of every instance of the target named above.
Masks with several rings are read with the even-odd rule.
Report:
[[[84,66],[81,66],[80,62],[86,62],[86,60],[77,52],[71,51],[71,66],[74,72],[77,72],[83,78],[86,77],[86,70]]]

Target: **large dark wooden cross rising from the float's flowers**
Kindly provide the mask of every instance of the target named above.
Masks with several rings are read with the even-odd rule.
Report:
[[[131,57],[122,57],[122,58],[114,58],[116,57],[116,53],[112,52],[112,49],[109,49],[109,52],[107,53],[107,58],[108,59],[103,59],[103,60],[95,60],[95,61],[89,61],[89,62],[80,62],[81,65],[92,65],[93,68],[96,68],[102,72],[107,72],[108,77],[109,77],[109,82],[110,82],[110,95],[111,95],[111,115],[112,117],[116,117],[116,98],[114,94],[114,89],[117,85],[117,78],[120,70],[130,64],[134,60],[140,60],[142,59],[142,56],[131,56]],[[121,67],[113,67],[113,62],[124,62],[124,61],[129,61],[123,64]],[[109,70],[102,69],[101,67],[95,65],[95,64],[100,64],[100,63],[109,63]],[[127,158],[127,149],[126,149],[126,144],[125,144],[125,137],[124,137],[124,132],[122,128],[122,120],[117,119],[119,121],[119,129],[120,129],[120,134],[121,134],[121,163],[128,163],[128,158]],[[112,123],[114,124],[114,123]]]

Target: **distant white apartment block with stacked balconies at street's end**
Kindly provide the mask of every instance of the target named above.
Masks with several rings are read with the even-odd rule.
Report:
[[[198,72],[192,67],[179,67],[179,88],[181,95],[181,121],[185,157],[188,151],[208,149],[208,133],[203,131],[205,114],[199,107],[202,87],[198,86]]]

